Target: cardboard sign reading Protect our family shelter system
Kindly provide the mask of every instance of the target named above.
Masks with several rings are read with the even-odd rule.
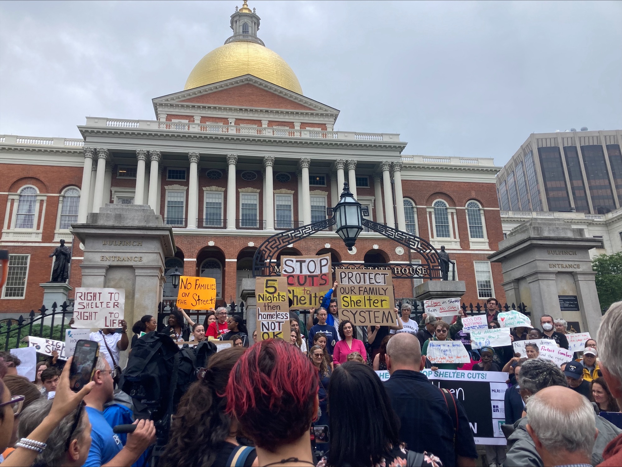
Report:
[[[395,326],[397,313],[390,270],[337,269],[337,306],[341,319],[355,326]]]

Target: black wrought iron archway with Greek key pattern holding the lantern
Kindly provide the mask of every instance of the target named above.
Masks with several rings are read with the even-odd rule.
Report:
[[[304,238],[311,235],[327,230],[336,224],[335,217],[329,217],[328,219],[319,220],[312,224],[303,225],[297,229],[284,230],[271,237],[266,238],[264,242],[259,245],[253,257],[253,277],[257,276],[279,276],[281,275],[281,265],[277,262],[277,256],[281,250],[289,247],[295,242],[299,242]],[[388,225],[378,224],[373,220],[363,218],[363,227],[366,227],[373,232],[384,235],[384,237],[390,238],[394,242],[403,245],[406,248],[419,253],[422,257],[421,263],[375,263],[375,264],[361,264],[361,263],[348,263],[339,262],[333,263],[333,268],[384,268],[391,269],[394,279],[437,279],[442,277],[441,267],[439,262],[439,252],[432,243],[424,240],[424,238],[417,237],[416,235],[403,232],[402,230],[394,229]]]

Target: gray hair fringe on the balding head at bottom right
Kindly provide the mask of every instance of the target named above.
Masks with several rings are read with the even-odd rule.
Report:
[[[527,423],[550,453],[578,451],[591,458],[596,438],[594,409],[587,397],[575,399],[578,406],[567,406],[536,394],[527,400]]]

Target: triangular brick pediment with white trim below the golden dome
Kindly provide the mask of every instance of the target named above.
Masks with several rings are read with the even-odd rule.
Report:
[[[296,94],[253,75],[244,75],[230,80],[198,88],[172,93],[153,99],[156,113],[161,105],[188,105],[196,107],[261,108],[281,111],[302,111],[305,113],[329,113],[338,115],[335,108]]]

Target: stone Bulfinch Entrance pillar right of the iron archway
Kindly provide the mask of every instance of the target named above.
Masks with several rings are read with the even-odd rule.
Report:
[[[525,303],[534,326],[550,314],[596,336],[601,313],[589,250],[599,244],[563,220],[530,219],[488,259],[501,263],[508,303]]]

